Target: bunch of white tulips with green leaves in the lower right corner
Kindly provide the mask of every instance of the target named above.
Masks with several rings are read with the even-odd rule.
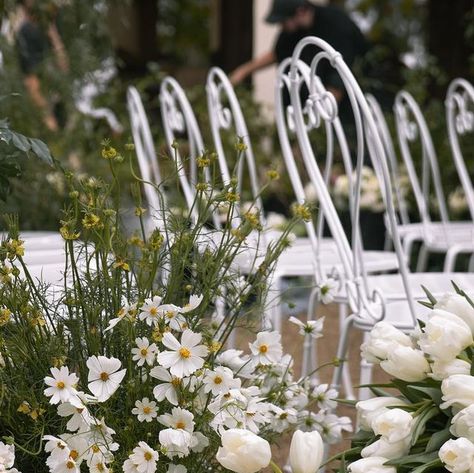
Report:
[[[429,299],[418,330],[379,322],[362,345],[393,379],[356,404],[360,430],[341,471],[474,471],[474,305],[458,288]]]

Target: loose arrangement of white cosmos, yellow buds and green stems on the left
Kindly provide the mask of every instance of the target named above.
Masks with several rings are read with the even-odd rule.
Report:
[[[195,214],[156,215],[135,176],[130,231],[115,177],[126,160],[107,142],[101,155],[110,183],[66,175],[61,281],[31,276],[14,218],[0,245],[0,471],[253,473],[299,429],[293,471],[314,473],[321,436],[339,441],[350,421],[332,413],[334,390],[295,375],[279,333],[258,331],[266,280],[308,209],[243,277],[235,262],[258,214],[209,226],[222,202],[234,214],[232,184],[198,183]],[[322,320],[295,323],[321,336]],[[237,327],[257,332],[245,350],[232,345]]]

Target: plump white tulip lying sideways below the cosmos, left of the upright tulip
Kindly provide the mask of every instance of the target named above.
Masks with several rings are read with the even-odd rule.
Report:
[[[270,444],[244,429],[229,429],[222,433],[222,447],[217,451],[217,461],[236,473],[256,473],[270,464]]]

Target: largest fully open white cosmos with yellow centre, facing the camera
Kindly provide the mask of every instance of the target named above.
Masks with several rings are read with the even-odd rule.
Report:
[[[169,368],[172,375],[184,378],[193,374],[204,365],[208,349],[200,345],[202,335],[187,329],[181,336],[181,342],[169,332],[163,335],[162,343],[170,351],[162,351],[158,355],[158,363]]]

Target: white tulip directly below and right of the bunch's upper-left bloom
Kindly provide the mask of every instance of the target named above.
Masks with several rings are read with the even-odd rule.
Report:
[[[395,348],[380,366],[386,373],[408,382],[422,381],[430,371],[422,351],[404,346]]]

